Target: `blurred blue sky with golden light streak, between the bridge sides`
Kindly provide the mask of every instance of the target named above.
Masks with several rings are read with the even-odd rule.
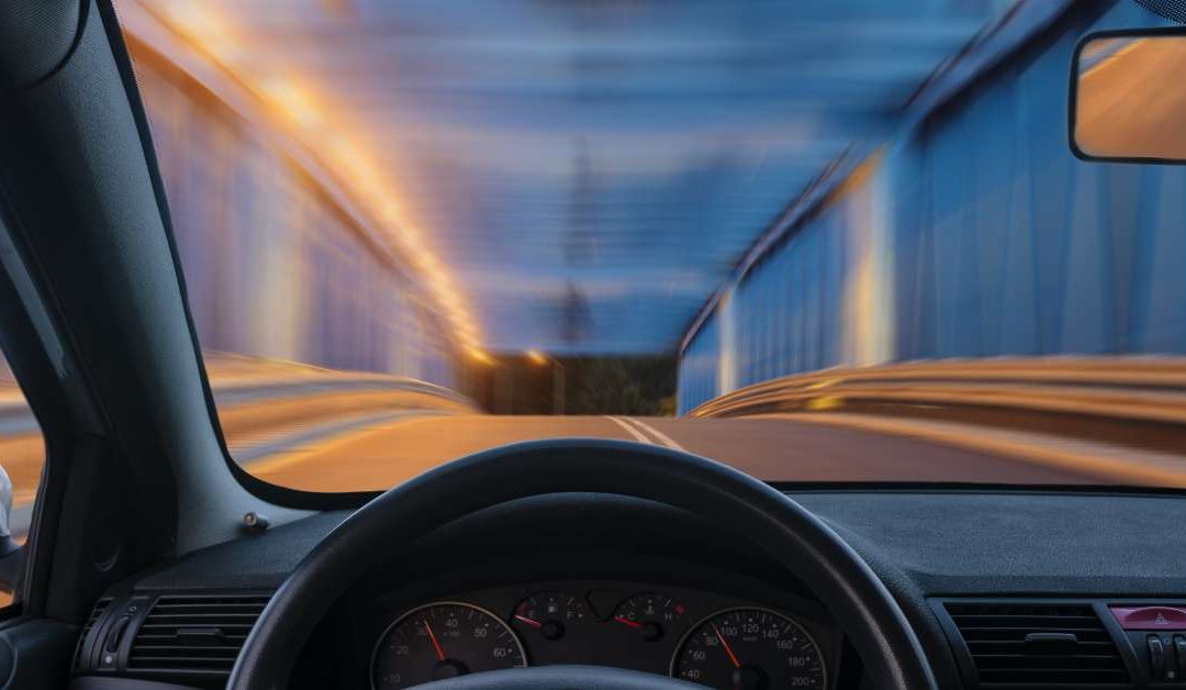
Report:
[[[597,355],[671,352],[1009,2],[154,5],[206,14],[196,40],[388,228],[461,350]]]

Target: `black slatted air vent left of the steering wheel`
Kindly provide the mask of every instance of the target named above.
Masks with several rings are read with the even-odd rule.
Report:
[[[161,596],[136,629],[132,673],[155,678],[224,678],[267,596]]]

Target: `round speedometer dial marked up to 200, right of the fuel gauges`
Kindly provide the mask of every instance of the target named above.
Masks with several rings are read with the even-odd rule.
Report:
[[[763,608],[715,613],[684,635],[671,676],[710,688],[824,690],[823,654],[793,620]]]

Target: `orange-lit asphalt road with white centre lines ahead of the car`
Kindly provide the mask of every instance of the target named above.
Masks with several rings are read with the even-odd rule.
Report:
[[[1098,483],[1090,471],[880,433],[782,418],[672,419],[410,414],[273,447],[246,463],[308,490],[384,489],[445,461],[517,441],[598,437],[682,448],[769,481]],[[283,442],[281,442],[283,444]]]

